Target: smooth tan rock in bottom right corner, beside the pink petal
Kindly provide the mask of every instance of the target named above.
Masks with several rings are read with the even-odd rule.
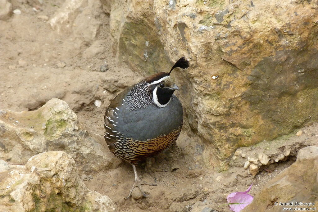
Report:
[[[302,148],[296,162],[270,180],[243,211],[281,211],[282,206],[275,206],[274,202],[314,202],[312,207],[317,207],[317,161],[318,147]]]

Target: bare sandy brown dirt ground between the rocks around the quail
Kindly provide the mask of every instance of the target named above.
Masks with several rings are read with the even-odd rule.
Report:
[[[54,4],[44,2],[35,12],[34,5],[14,0],[13,9],[20,9],[21,15],[13,14],[9,20],[0,21],[0,108],[30,111],[53,97],[62,99],[75,111],[82,125],[104,143],[103,116],[110,100],[142,76],[113,56],[106,14],[102,14],[104,22],[95,38],[95,55],[89,58],[85,52],[91,43],[74,38],[71,33],[58,34],[46,20],[38,18],[51,17],[63,0]],[[100,72],[100,66],[106,63],[109,69]],[[96,99],[102,101],[100,108],[94,105]],[[304,136],[317,133],[317,127],[306,130]],[[183,151],[189,142],[195,139],[183,131],[177,145],[139,164],[137,171],[142,179],[154,182],[156,178],[158,184],[144,186],[148,198],[138,198],[137,189],[134,198],[123,198],[134,181],[132,167],[127,163],[92,173],[93,179],[84,183],[89,189],[109,196],[118,211],[202,211],[204,207],[229,211],[224,205],[228,194],[245,191],[253,183],[250,194],[255,195],[295,160],[291,157],[286,162],[272,164],[269,167],[272,172],[263,170],[255,177],[241,174],[238,168],[217,173],[202,167],[193,160],[193,155]]]

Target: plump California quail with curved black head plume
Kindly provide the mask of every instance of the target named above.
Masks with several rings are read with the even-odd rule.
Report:
[[[135,164],[170,147],[181,132],[182,105],[173,94],[179,88],[170,77],[176,67],[188,68],[189,61],[182,57],[169,73],[153,74],[128,87],[106,110],[104,137],[109,150],[129,162],[135,173],[135,183],[127,198],[136,186],[146,197],[141,185],[156,185],[140,181]]]

